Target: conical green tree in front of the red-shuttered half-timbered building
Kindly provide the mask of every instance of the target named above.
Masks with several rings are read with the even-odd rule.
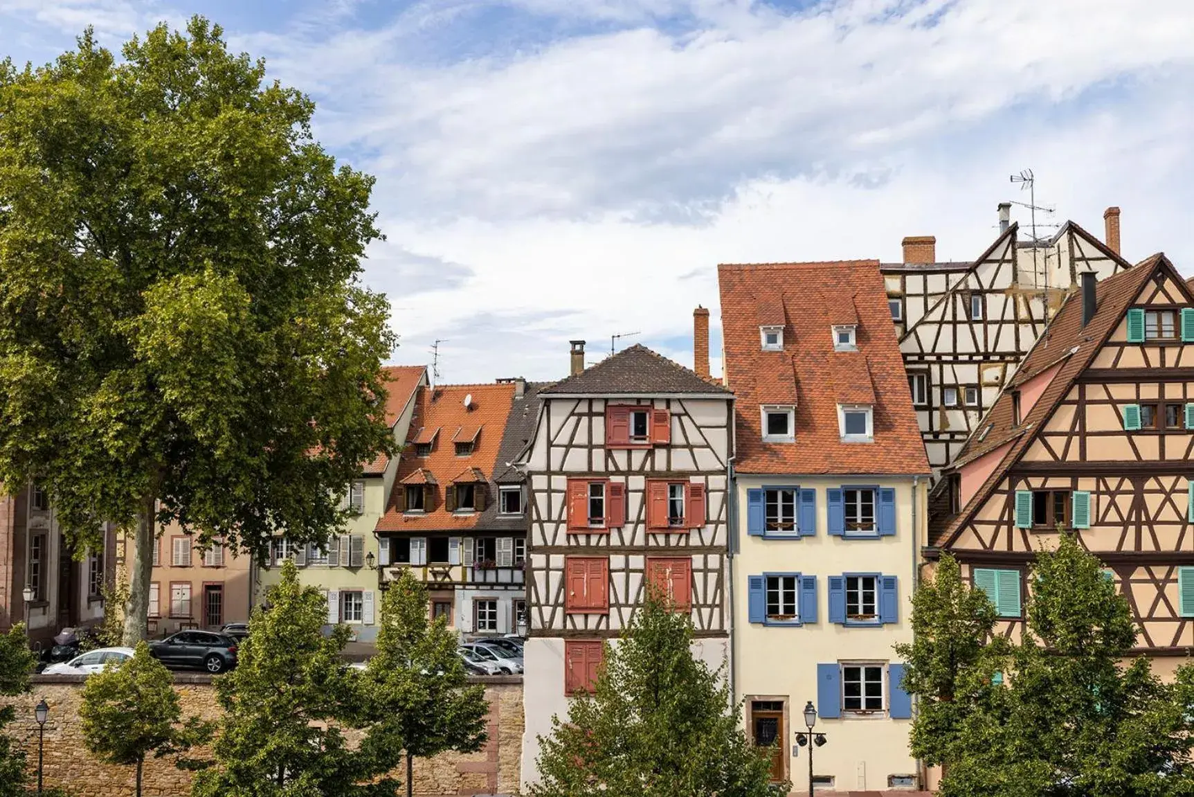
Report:
[[[693,657],[691,620],[650,596],[616,645],[592,695],[540,737],[533,797],[778,797],[771,762],[739,725],[724,667]]]

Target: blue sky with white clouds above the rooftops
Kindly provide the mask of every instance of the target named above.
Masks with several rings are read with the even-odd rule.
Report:
[[[0,56],[196,13],[376,176],[364,280],[441,382],[614,335],[690,366],[697,305],[718,374],[718,263],[971,260],[1024,168],[1039,221],[1119,206],[1125,257],[1194,271],[1190,0],[0,0]]]

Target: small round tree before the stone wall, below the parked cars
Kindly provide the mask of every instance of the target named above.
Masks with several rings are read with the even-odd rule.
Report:
[[[79,717],[84,743],[101,761],[135,764],[137,797],[146,755],[178,755],[210,735],[210,727],[196,717],[183,722],[173,683],[170,670],[140,642],[133,658],[119,667],[105,667],[82,688]],[[187,760],[177,764],[195,766]]]

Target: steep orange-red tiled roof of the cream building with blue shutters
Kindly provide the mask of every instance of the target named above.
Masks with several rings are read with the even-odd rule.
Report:
[[[929,472],[878,260],[724,264],[718,277],[726,385],[737,396],[738,471]],[[858,351],[833,351],[831,319],[842,312],[826,296],[854,296]],[[764,298],[782,299],[788,308],[782,354],[761,350],[758,305]],[[773,403],[778,385],[790,390],[789,368],[799,384],[796,442],[765,443],[759,406]],[[874,401],[873,443],[842,442],[837,405],[847,401],[839,396]]]

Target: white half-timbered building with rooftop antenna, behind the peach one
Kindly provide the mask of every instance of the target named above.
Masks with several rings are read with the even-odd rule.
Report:
[[[1106,243],[1072,221],[1050,239],[1024,240],[1009,211],[999,206],[999,235],[973,262],[937,262],[927,235],[905,238],[903,262],[881,266],[935,473],[961,450],[1078,274],[1102,280],[1130,266],[1119,255],[1119,208],[1104,214]]]

